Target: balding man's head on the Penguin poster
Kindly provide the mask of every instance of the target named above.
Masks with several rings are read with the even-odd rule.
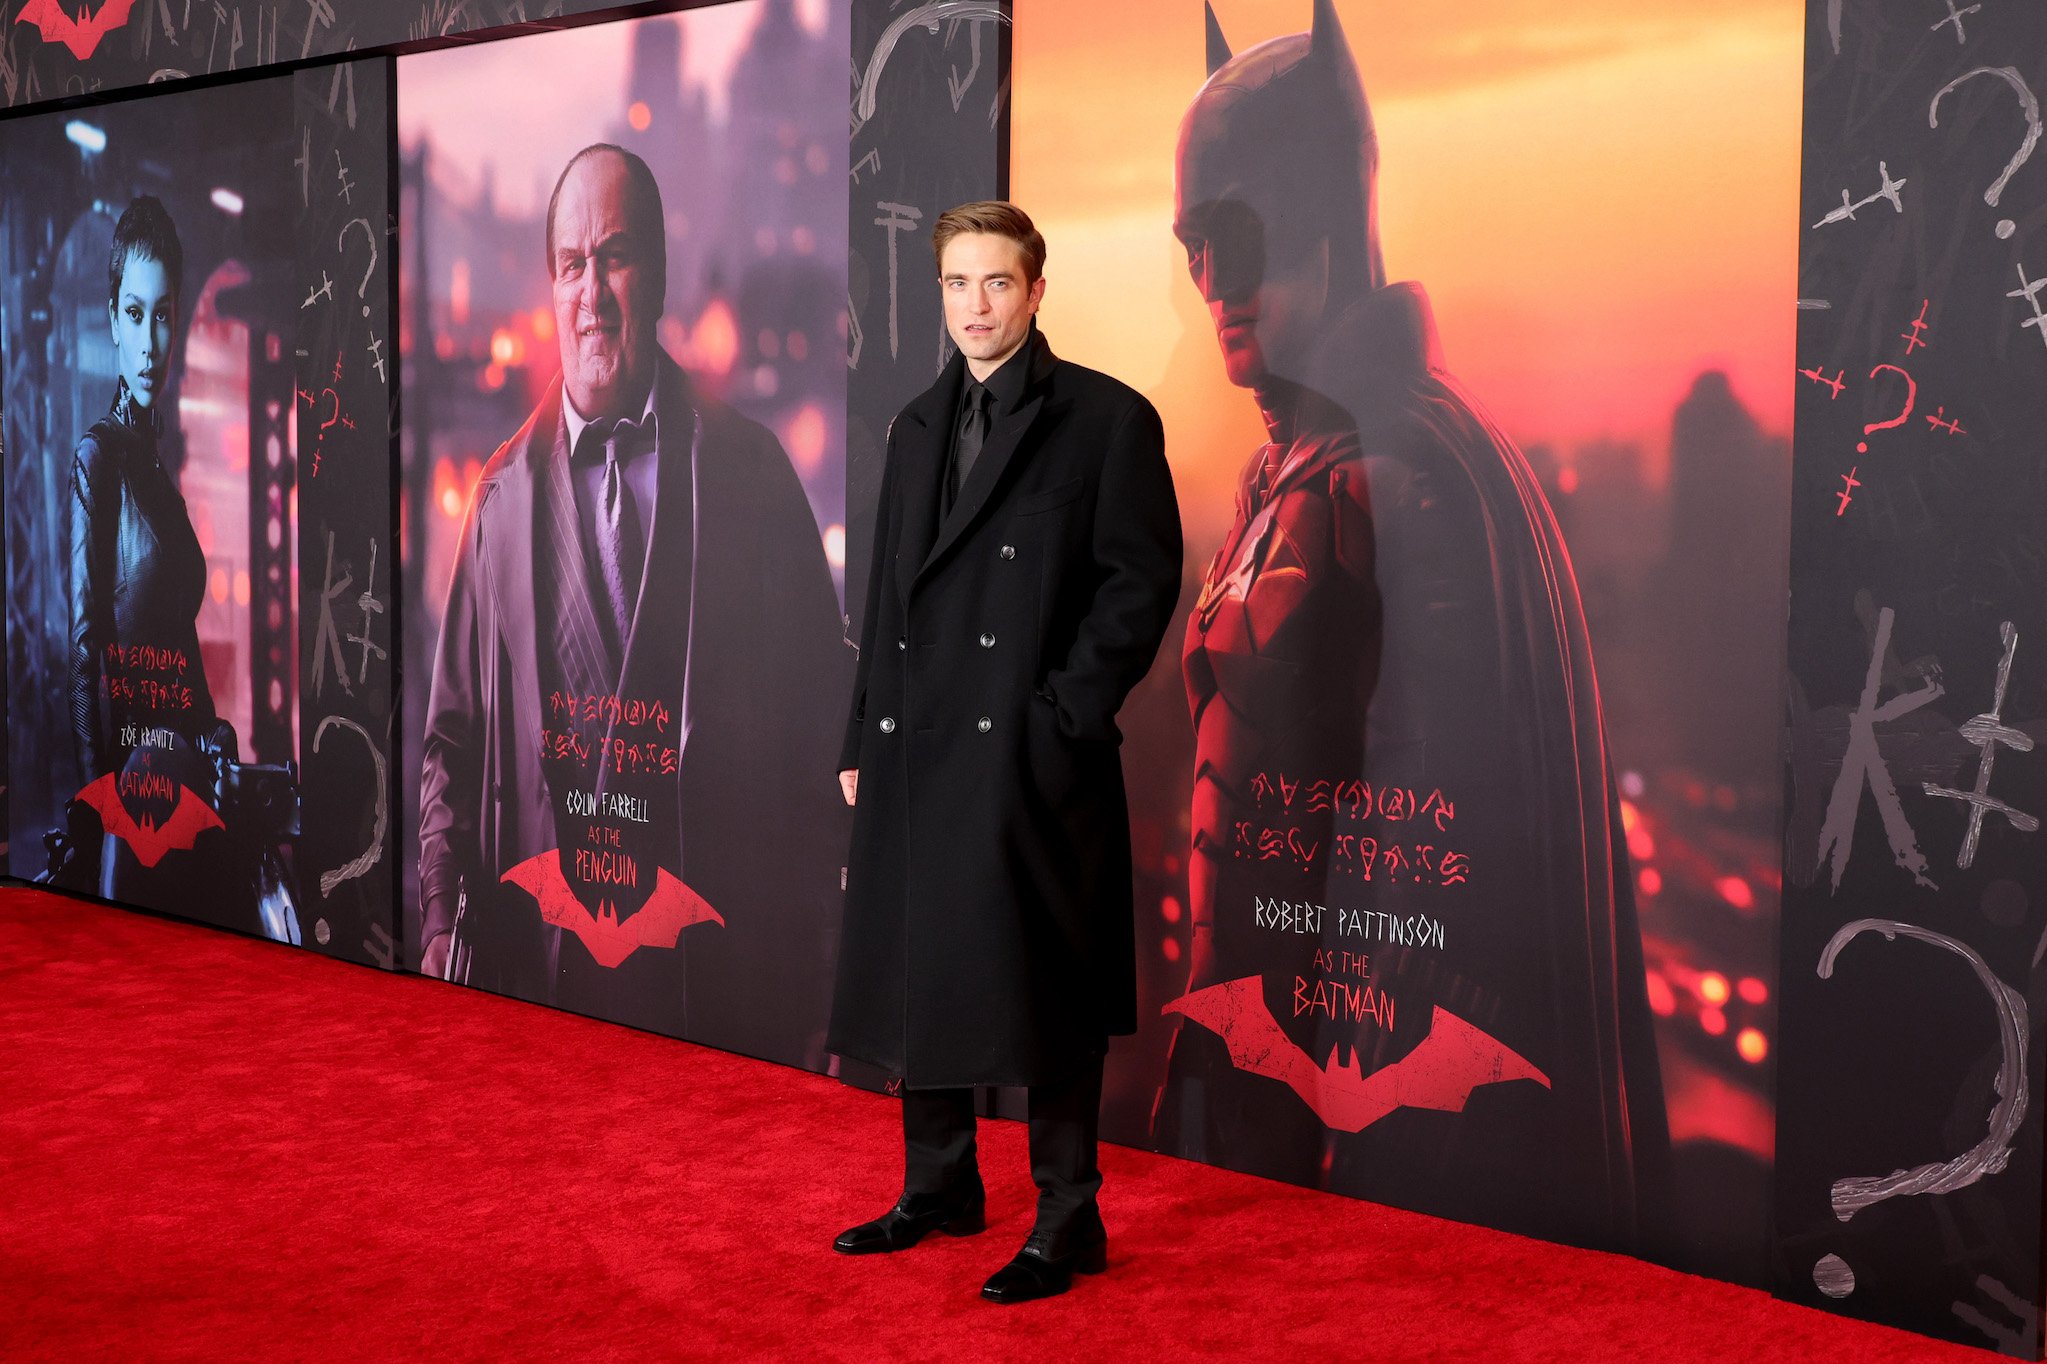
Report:
[[[653,377],[661,319],[657,244],[630,219],[626,166],[585,156],[555,203],[555,336],[561,383],[587,420],[639,416]]]

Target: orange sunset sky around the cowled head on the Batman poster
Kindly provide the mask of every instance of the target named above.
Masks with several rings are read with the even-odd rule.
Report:
[[[1787,434],[1797,0],[1339,0],[1380,131],[1392,279],[1427,285],[1449,369],[1523,446],[1638,442],[1662,475],[1703,369]],[[1216,0],[1236,51],[1310,0]],[[1183,492],[1261,438],[1169,223],[1200,0],[1015,6],[1011,197],[1050,242],[1056,350],[1144,389]]]

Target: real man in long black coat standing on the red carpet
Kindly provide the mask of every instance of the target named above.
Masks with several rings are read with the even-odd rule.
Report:
[[[888,432],[829,1034],[901,1077],[905,1180],[835,1247],[981,1231],[972,1085],[1028,1085],[1038,1219],[983,1288],[1021,1303],[1107,1264],[1101,1059],[1136,1030],[1116,713],[1173,616],[1179,506],[1152,406],[1036,330],[1030,217],[964,205],[931,246],[960,354]]]

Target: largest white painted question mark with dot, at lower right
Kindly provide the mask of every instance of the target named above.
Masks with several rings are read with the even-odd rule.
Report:
[[[1820,979],[1832,979],[1834,958],[1840,956],[1840,948],[1869,932],[1891,940],[1900,936],[1918,938],[1967,961],[1998,1008],[1998,1040],[2004,1047],[2004,1063],[1998,1065],[1998,1077],[1992,1081],[1992,1088],[1998,1092],[1998,1106],[1990,1110],[1990,1135],[1951,1161],[1893,1169],[1887,1176],[1834,1180],[1834,1217],[1840,1221],[1848,1221],[1863,1208],[1885,1198],[1951,1194],[1957,1188],[1975,1184],[1984,1176],[1998,1174],[2012,1157],[2012,1137],[2018,1135],[2018,1124],[2027,1118],[2027,997],[2000,981],[1990,971],[1990,965],[1967,944],[1955,942],[1930,928],[1916,928],[1896,920],[1855,920],[1844,926],[1828,940],[1826,950],[1820,952]],[[1812,1268],[1812,1282],[1826,1296],[1844,1298],[1855,1292],[1855,1270],[1840,1255],[1822,1255]]]

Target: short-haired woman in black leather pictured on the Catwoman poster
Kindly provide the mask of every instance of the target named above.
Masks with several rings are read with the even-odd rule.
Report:
[[[213,707],[199,651],[207,557],[160,453],[182,303],[178,227],[145,195],[115,223],[106,262],[113,408],[72,459],[70,696],[86,786],[45,840],[47,879],[297,942],[278,858],[297,832],[295,770],[239,764]],[[149,829],[141,848],[119,838],[131,823]],[[158,870],[211,829],[231,832],[215,846],[235,875]]]

